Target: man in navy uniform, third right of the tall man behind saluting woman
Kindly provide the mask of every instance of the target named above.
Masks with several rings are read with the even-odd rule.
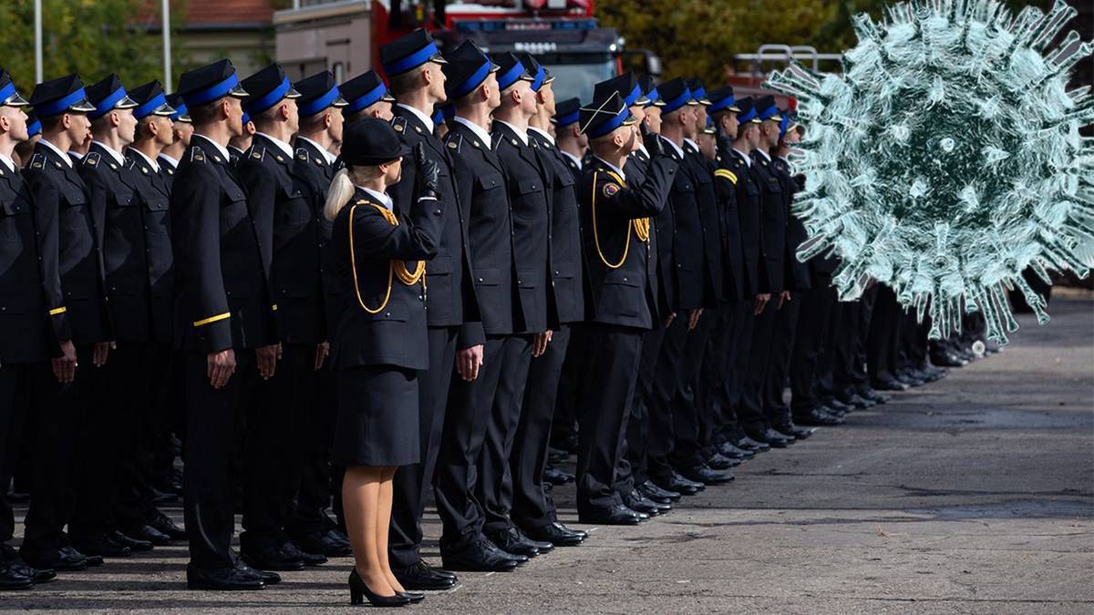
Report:
[[[544,488],[544,473],[547,469],[555,399],[570,346],[570,327],[583,322],[587,311],[587,276],[584,251],[581,250],[575,174],[570,167],[573,161],[560,153],[555,137],[549,132],[551,120],[558,113],[551,85],[555,79],[531,55],[522,55],[521,62],[534,70],[536,78],[532,82],[536,92],[536,115],[528,119],[528,138],[538,149],[538,159],[545,167],[544,178],[549,182],[550,262],[547,272],[550,287],[547,310],[555,329],[550,344],[543,355],[532,359],[528,369],[521,421],[509,459],[512,484],[510,517],[533,541],[569,546],[581,544],[586,535],[558,522],[555,503]]]

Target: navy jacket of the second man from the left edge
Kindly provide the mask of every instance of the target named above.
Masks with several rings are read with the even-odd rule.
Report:
[[[69,160],[49,146],[37,143],[23,177],[38,212],[43,269],[59,272],[60,287],[50,288],[49,295],[50,302],[67,309],[60,318],[67,322],[57,325],[66,334],[71,332],[75,344],[107,341],[113,339],[113,333],[103,293],[95,221],[83,179],[74,165],[68,165]],[[53,299],[62,292],[63,299]]]

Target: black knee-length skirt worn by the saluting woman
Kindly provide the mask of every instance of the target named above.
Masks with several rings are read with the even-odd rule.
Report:
[[[335,463],[418,463],[418,372],[392,365],[361,365],[339,370],[336,378]]]

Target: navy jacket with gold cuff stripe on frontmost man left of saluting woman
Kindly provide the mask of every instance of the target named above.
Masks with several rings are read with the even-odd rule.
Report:
[[[247,194],[231,163],[195,135],[175,179],[175,346],[218,352],[276,344],[275,303]]]

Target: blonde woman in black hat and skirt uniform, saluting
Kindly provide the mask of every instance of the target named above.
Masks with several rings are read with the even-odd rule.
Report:
[[[346,526],[356,566],[350,601],[377,606],[421,600],[395,579],[387,562],[392,477],[417,463],[418,381],[429,367],[426,330],[426,264],[437,254],[443,222],[438,201],[440,170],[415,151],[418,201],[409,217],[387,196],[409,152],[387,123],[365,118],[347,127],[345,169],[330,184],[325,213],[334,220],[333,244],[342,288],[331,360],[338,386],[334,461],[342,480]]]

